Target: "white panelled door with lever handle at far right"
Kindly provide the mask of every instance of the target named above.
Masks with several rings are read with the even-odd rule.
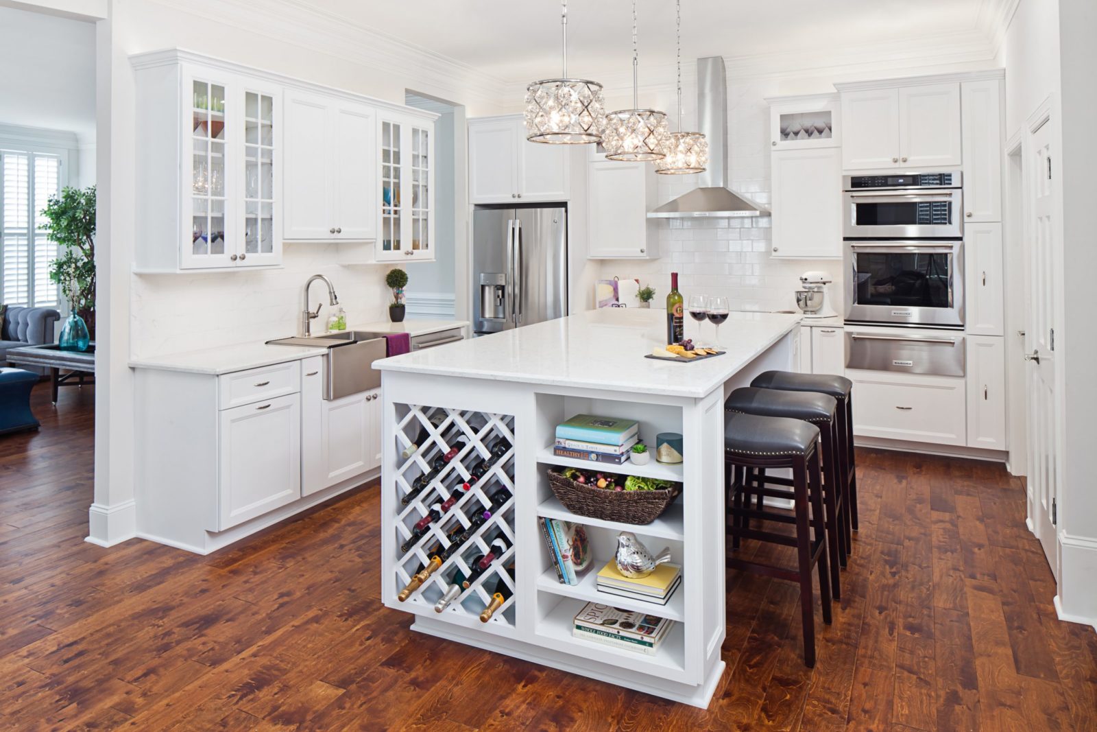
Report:
[[[1055,383],[1055,189],[1052,177],[1051,125],[1032,133],[1028,151],[1029,272],[1031,320],[1026,328],[1029,382],[1028,489],[1034,500],[1033,529],[1059,579],[1055,552],[1059,493],[1059,414]]]

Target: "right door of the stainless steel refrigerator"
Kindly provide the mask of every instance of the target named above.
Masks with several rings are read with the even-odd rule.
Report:
[[[514,324],[567,314],[567,210],[519,209],[513,233]]]

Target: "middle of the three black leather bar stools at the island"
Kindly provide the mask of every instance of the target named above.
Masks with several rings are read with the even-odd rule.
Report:
[[[836,600],[841,599],[839,567],[846,566],[849,547],[846,543],[846,502],[838,476],[840,473],[838,424],[835,412],[837,401],[833,396],[817,392],[781,392],[772,388],[744,386],[732,392],[724,402],[725,412],[737,412],[758,417],[787,417],[807,421],[819,430],[823,457],[823,506],[826,508],[826,541],[830,554],[830,592]],[[753,478],[753,480],[751,480]],[[772,485],[791,486],[792,481],[767,475],[765,470],[757,473],[747,471],[746,499],[750,493],[758,496],[758,510],[762,509],[764,496],[793,498],[792,491],[774,488]]]

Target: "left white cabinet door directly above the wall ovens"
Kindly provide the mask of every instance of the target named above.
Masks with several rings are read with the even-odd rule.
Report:
[[[841,167],[846,170],[898,165],[898,89],[841,93]]]

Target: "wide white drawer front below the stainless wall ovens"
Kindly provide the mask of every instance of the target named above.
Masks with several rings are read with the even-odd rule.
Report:
[[[965,444],[964,380],[904,378],[847,370],[853,382],[853,432],[892,440]]]

